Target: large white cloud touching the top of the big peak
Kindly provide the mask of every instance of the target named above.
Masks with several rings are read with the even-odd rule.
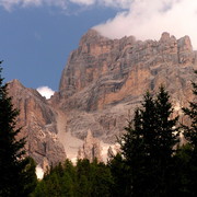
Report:
[[[134,35],[142,40],[159,39],[162,32],[177,38],[189,35],[197,48],[196,20],[196,0],[136,0],[130,2],[127,11],[95,28],[111,38]]]

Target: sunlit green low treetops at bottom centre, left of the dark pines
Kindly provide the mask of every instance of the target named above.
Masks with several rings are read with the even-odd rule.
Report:
[[[112,184],[111,170],[104,163],[79,160],[73,166],[67,160],[45,174],[32,196],[108,197]]]

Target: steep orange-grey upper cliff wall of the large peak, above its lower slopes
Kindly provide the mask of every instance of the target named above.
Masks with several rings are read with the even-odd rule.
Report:
[[[176,39],[163,33],[159,42],[132,36],[112,40],[91,30],[62,72],[60,101],[65,108],[89,112],[141,96],[161,83],[172,92],[186,90],[183,74],[192,73],[194,63],[196,55],[188,36]]]

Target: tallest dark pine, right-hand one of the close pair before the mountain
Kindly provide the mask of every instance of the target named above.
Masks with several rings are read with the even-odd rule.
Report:
[[[170,95],[160,86],[155,99],[157,127],[154,154],[151,159],[154,182],[153,194],[169,196],[174,193],[174,160],[175,146],[178,144],[178,116],[173,118],[173,107]],[[157,192],[157,193],[154,193]]]

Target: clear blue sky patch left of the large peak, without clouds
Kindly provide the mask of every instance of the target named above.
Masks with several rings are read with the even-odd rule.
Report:
[[[72,13],[73,10],[73,13]],[[19,79],[25,86],[58,89],[71,50],[92,26],[113,18],[116,9],[92,8],[69,12],[53,7],[0,8],[0,59],[5,81]],[[79,12],[79,13],[78,13]]]

